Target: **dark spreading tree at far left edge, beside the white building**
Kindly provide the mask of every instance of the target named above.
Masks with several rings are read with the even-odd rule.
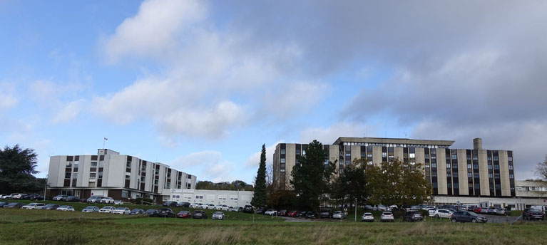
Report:
[[[33,174],[36,168],[36,152],[21,149],[19,145],[0,149],[0,193],[33,193],[43,188]]]

